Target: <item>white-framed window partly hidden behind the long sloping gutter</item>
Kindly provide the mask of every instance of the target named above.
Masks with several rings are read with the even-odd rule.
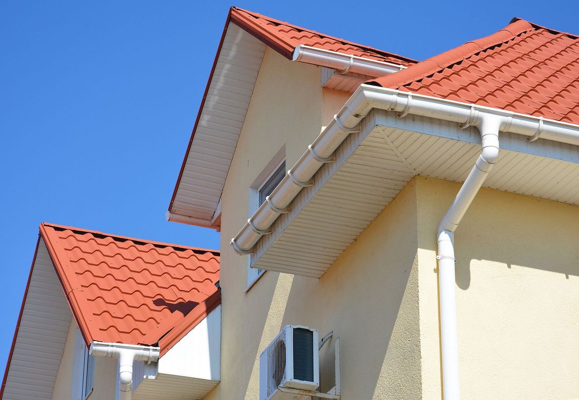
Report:
[[[285,177],[285,146],[277,152],[276,156],[267,164],[261,174],[250,186],[249,216],[252,216],[263,204],[265,198],[272,194],[273,189],[280,184]],[[262,276],[264,270],[251,268],[251,257],[247,256],[247,289]]]

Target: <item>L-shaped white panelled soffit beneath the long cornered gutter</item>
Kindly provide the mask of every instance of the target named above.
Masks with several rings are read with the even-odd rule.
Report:
[[[374,110],[262,236],[252,267],[320,277],[415,175],[463,182],[480,151],[477,129]],[[500,133],[486,188],[579,205],[577,146]]]

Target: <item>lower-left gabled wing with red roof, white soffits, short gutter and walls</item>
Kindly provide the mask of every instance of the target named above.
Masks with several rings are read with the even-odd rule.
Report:
[[[0,398],[203,398],[220,303],[217,251],[42,223]]]

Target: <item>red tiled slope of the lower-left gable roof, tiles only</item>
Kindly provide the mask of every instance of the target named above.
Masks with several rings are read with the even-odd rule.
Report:
[[[40,231],[87,343],[151,345],[179,327],[164,353],[221,301],[217,251],[47,223]]]

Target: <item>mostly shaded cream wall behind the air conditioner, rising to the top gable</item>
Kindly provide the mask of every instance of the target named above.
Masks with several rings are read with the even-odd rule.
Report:
[[[321,89],[317,67],[266,50],[223,190],[221,383],[206,399],[258,399],[259,353],[287,324],[340,337],[343,398],[419,397],[413,183],[320,280],[268,271],[244,292],[247,258],[229,245],[247,220],[249,187],[270,159],[285,145],[291,167],[348,97]],[[332,346],[322,352],[326,372]]]

